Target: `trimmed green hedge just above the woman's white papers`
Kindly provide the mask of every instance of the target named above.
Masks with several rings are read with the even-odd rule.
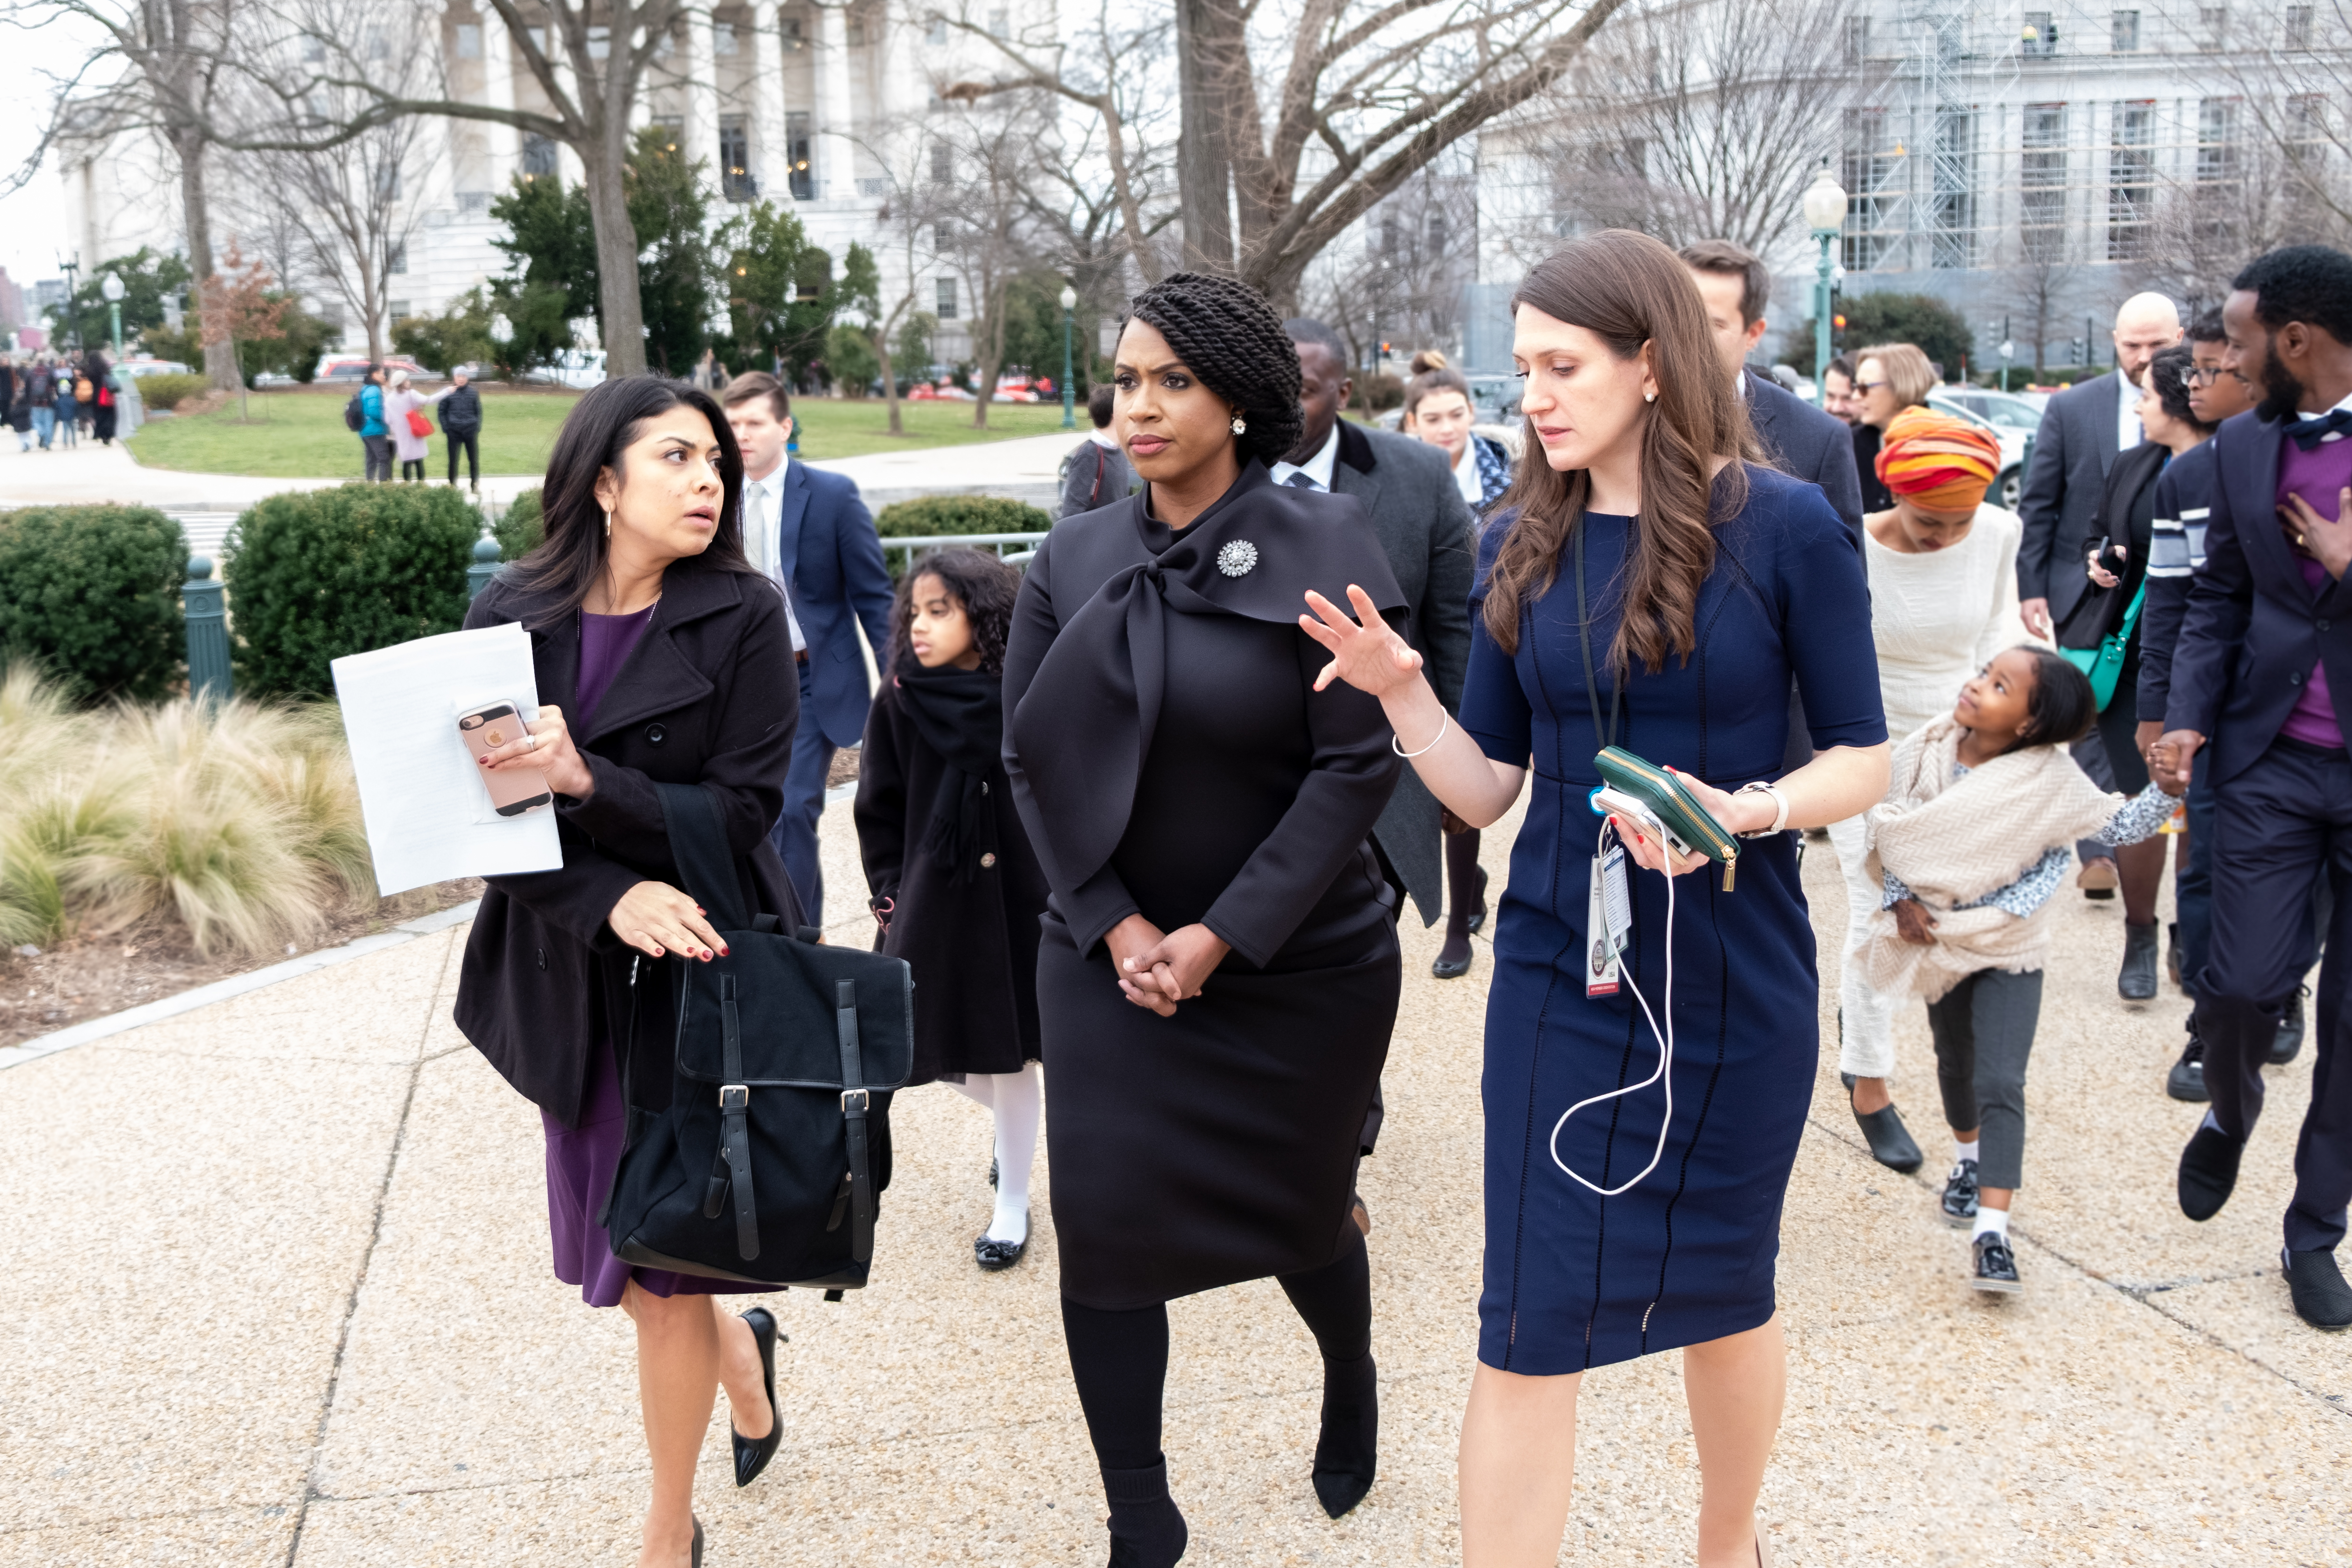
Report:
[[[228,536],[242,696],[329,696],[329,661],[466,621],[482,517],[454,489],[343,484],[270,496]]]

